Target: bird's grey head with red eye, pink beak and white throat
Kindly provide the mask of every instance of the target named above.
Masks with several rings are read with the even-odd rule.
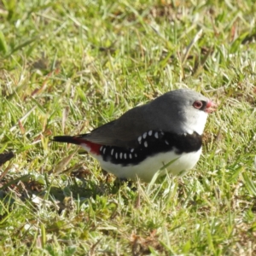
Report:
[[[202,134],[208,113],[216,105],[207,97],[189,89],[172,90],[148,104],[156,123],[167,131]],[[157,109],[157,111],[154,111]]]

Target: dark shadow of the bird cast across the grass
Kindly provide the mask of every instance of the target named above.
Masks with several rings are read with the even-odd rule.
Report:
[[[7,174],[0,180],[0,200],[9,206],[9,210],[15,202],[22,201],[36,208],[46,205],[61,214],[70,208],[71,201],[86,203],[101,196],[116,195],[119,189],[126,185],[135,188],[135,183],[118,179],[114,181],[113,176],[109,174],[102,176],[101,180],[92,178],[92,175],[85,171],[82,173],[81,168],[79,172],[60,175],[29,173],[14,178]],[[59,176],[58,181],[65,182],[55,183],[56,176]]]

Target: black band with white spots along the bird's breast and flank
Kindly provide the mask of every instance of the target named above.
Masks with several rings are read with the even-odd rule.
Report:
[[[137,138],[136,148],[102,146],[100,154],[103,160],[122,166],[138,165],[154,154],[175,150],[176,154],[196,152],[201,148],[201,135],[175,134],[163,131],[148,131]]]

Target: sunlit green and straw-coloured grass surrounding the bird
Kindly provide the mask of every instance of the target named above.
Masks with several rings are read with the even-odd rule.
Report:
[[[256,4],[0,2],[0,255],[255,255]],[[168,90],[218,102],[184,177],[126,184],[50,137]]]

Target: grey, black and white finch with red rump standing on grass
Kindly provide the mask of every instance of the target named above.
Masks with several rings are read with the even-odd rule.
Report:
[[[81,146],[119,179],[150,183],[156,172],[183,175],[195,166],[208,113],[216,108],[194,90],[171,90],[89,133],[52,140]]]

